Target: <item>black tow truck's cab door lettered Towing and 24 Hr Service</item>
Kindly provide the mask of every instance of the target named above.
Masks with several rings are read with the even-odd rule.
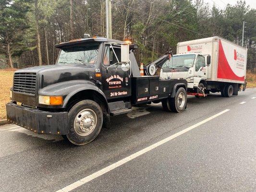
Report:
[[[121,68],[120,46],[105,45],[101,60],[102,91],[108,99],[131,96],[131,67],[124,72]]]

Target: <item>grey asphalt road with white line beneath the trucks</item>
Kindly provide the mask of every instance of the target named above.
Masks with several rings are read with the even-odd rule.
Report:
[[[111,129],[79,147],[61,136],[1,126],[0,192],[56,192],[66,186],[73,192],[256,191],[256,89],[231,98],[190,96],[180,114],[163,111],[161,104],[134,108],[111,122]],[[166,138],[171,139],[161,143]],[[124,161],[145,148],[150,150]]]

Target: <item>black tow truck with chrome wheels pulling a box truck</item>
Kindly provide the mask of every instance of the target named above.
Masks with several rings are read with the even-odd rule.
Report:
[[[187,81],[141,76],[135,44],[94,37],[55,47],[61,49],[55,65],[14,73],[8,121],[84,145],[102,126],[110,126],[110,116],[131,112],[134,105],[162,102],[173,112],[186,108]]]

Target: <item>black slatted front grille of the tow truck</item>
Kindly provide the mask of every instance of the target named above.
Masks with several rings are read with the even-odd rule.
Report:
[[[35,72],[14,73],[13,91],[35,95],[36,73]]]

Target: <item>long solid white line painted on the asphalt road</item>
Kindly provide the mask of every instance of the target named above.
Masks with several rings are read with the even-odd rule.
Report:
[[[122,164],[125,164],[125,163],[131,161],[132,159],[134,159],[134,158],[136,158],[138,156],[141,156],[141,155],[145,154],[146,152],[148,152],[148,151],[150,151],[150,150],[152,150],[152,149],[154,149],[154,148],[156,148],[156,147],[158,147],[158,146],[160,146],[162,144],[165,144],[168,141],[171,141],[175,137],[178,137],[178,136],[182,135],[183,133],[188,132],[188,131],[194,129],[194,128],[196,128],[196,127],[206,123],[207,121],[212,120],[212,119],[222,115],[223,113],[226,113],[229,110],[230,109],[226,109],[224,111],[221,111],[221,112],[217,113],[216,115],[213,115],[213,116],[211,116],[211,117],[209,117],[209,118],[207,118],[205,120],[202,120],[202,121],[196,123],[195,125],[192,125],[192,126],[186,128],[186,129],[184,129],[184,130],[182,130],[180,132],[177,132],[177,133],[171,135],[170,137],[167,137],[167,138],[165,138],[165,139],[163,139],[163,140],[161,140],[161,141],[159,141],[159,142],[157,142],[155,144],[152,144],[152,145],[150,145],[150,146],[148,146],[148,147],[146,147],[146,148],[144,148],[144,149],[142,149],[142,150],[140,150],[140,151],[138,151],[138,152],[136,152],[136,153],[134,153],[134,154],[132,154],[130,156],[127,156],[127,157],[123,158],[122,160],[120,160],[120,161],[118,161],[118,162],[116,162],[116,163],[114,163],[114,164],[112,164],[112,165],[110,165],[110,166],[108,166],[106,168],[103,168],[103,169],[101,169],[101,170],[99,170],[99,171],[97,171],[97,172],[95,172],[95,173],[93,173],[93,174],[91,174],[91,175],[81,179],[81,180],[78,180],[78,181],[76,181],[76,182],[74,182],[74,183],[72,183],[72,184],[70,184],[70,185],[60,189],[57,192],[70,192],[73,189],[76,189],[77,187],[79,187],[79,186],[89,182],[90,180],[94,180],[95,178],[98,178],[99,176],[109,172],[110,170],[112,170],[114,168],[118,168]]]

